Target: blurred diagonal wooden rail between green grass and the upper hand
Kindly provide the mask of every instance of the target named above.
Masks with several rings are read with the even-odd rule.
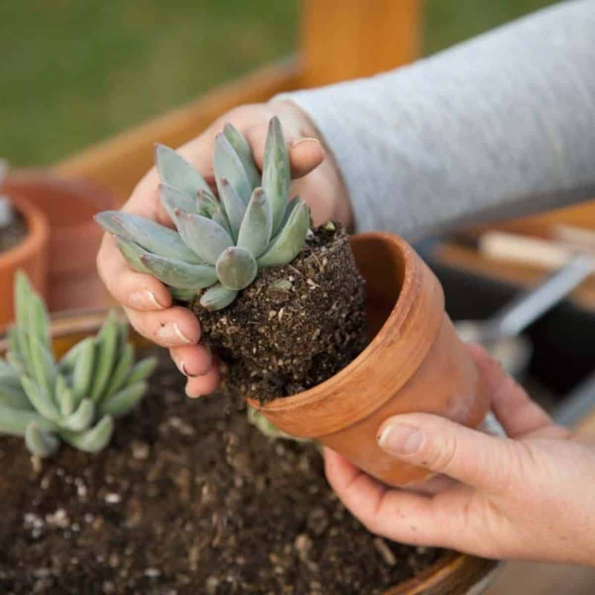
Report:
[[[295,58],[268,65],[206,93],[193,104],[73,155],[56,169],[65,176],[82,176],[97,181],[123,201],[152,166],[156,142],[179,146],[198,136],[236,105],[267,101],[276,93],[299,86],[299,73]]]

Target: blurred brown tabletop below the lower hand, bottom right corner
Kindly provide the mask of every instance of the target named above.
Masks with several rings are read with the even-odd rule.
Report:
[[[595,409],[578,431],[595,438]],[[593,595],[595,568],[565,564],[509,562],[485,595]]]

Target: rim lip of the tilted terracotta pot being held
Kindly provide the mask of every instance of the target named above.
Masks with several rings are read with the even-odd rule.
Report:
[[[397,297],[396,302],[394,302],[386,321],[384,321],[382,327],[378,330],[365,349],[359,353],[352,362],[324,382],[321,382],[308,390],[293,394],[292,396],[278,397],[264,405],[261,405],[256,399],[246,399],[247,402],[253,408],[258,409],[258,411],[262,411],[264,414],[288,412],[292,409],[303,408],[306,404],[312,406],[319,400],[324,399],[325,395],[328,394],[328,391],[333,386],[342,384],[348,377],[354,374],[354,372],[358,371],[362,365],[365,365],[368,358],[374,357],[374,354],[377,353],[379,349],[383,349],[384,337],[389,333],[389,323],[394,322],[395,320],[405,322],[409,312],[415,307],[415,296],[419,293],[420,287],[415,275],[416,262],[413,248],[411,248],[411,246],[409,246],[400,236],[387,231],[366,231],[364,233],[356,234],[356,236],[353,237],[357,237],[358,240],[361,241],[380,240],[380,242],[397,245],[400,248],[400,253],[402,254],[405,263],[405,275],[399,291],[399,297]],[[436,327],[436,334],[437,331],[438,327]],[[428,344],[425,350],[427,351],[429,349],[430,345]],[[406,380],[408,380],[408,378],[403,378],[401,384],[404,384]]]

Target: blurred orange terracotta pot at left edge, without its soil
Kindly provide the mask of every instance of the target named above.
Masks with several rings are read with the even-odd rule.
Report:
[[[25,218],[27,236],[6,252],[0,252],[0,328],[14,320],[14,276],[23,269],[38,292],[45,295],[48,222],[43,213],[20,195],[11,195],[12,204]]]

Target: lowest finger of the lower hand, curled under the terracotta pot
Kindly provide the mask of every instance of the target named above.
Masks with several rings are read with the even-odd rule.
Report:
[[[443,542],[443,524],[437,522],[431,497],[388,489],[327,448],[324,461],[328,483],[369,531],[402,543]]]

